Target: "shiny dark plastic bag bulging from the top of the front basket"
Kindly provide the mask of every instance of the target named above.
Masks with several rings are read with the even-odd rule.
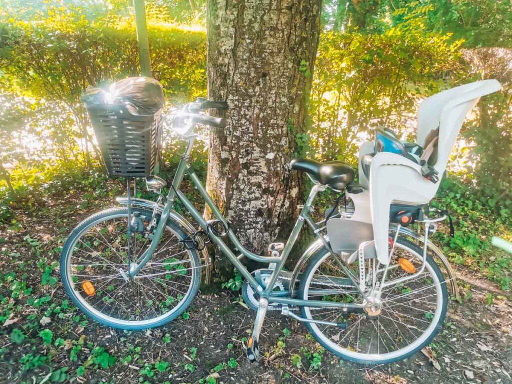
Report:
[[[122,104],[133,115],[153,115],[165,105],[162,84],[151,77],[129,77],[104,89],[88,89],[82,101],[86,106]]]

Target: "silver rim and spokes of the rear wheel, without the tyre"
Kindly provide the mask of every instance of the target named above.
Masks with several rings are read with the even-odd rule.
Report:
[[[421,263],[421,256],[416,251],[400,243],[396,243],[392,263],[397,262],[398,255],[404,256],[404,251],[409,253],[410,260],[416,266]],[[325,288],[326,279],[319,278],[319,276],[325,275],[325,273],[319,274],[317,272],[318,268],[330,257],[331,255],[327,253],[324,257],[320,258],[307,276],[304,286],[304,298],[306,300],[308,298],[309,300],[320,300],[314,288],[315,285],[320,284],[315,282],[315,280],[322,282]],[[395,267],[390,271],[394,274],[404,272],[399,267]],[[388,272],[388,276],[392,277],[393,273],[390,275],[390,272]],[[316,278],[314,278],[315,275],[317,276]],[[379,281],[378,278],[377,281]],[[304,307],[304,311],[308,318],[322,319],[335,323],[347,321],[347,328],[345,330],[333,326],[310,323],[310,327],[319,338],[319,341],[339,354],[347,356],[352,360],[371,362],[398,360],[403,358],[402,356],[409,355],[418,350],[436,332],[443,312],[441,284],[444,283],[440,282],[433,267],[430,263],[427,263],[423,273],[418,278],[403,283],[401,286],[383,289],[381,297],[382,311],[379,316],[373,319],[370,319],[370,316],[366,313],[343,314],[343,311],[333,311],[332,308],[315,309]],[[337,289],[338,292],[337,294],[333,292],[330,295],[324,295],[321,300],[333,300],[333,297],[339,300],[339,297],[343,297],[340,301],[362,302],[362,298],[360,298],[354,287],[344,287],[342,289],[339,285],[339,280],[335,281],[335,284],[331,283],[331,288],[329,289]],[[419,327],[417,326],[418,324],[420,325]]]

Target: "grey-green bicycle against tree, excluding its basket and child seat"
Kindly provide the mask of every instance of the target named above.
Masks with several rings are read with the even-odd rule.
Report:
[[[428,345],[443,323],[448,300],[446,280],[430,254],[428,237],[434,223],[445,217],[429,219],[418,207],[400,212],[399,218],[414,215],[423,223],[425,234],[420,237],[403,220],[395,222],[387,265],[378,263],[368,242],[350,252],[335,252],[326,225],[333,218],[350,216],[350,202],[338,204],[339,209],[334,207],[319,222],[310,215],[311,205],[317,193],[327,188],[336,192],[357,188],[351,184],[353,170],[341,162],[298,159],[292,168],[305,172],[313,187],[291,234],[285,244],[270,244],[268,255],[252,253],[237,239],[190,165],[196,125],[218,129],[226,125],[224,119],[202,113],[210,108],[222,110],[227,104],[200,99],[187,104],[175,119],[173,126],[187,146],[170,184],[156,176],[146,178],[147,189],[159,195],[157,202],[131,197],[129,179],[127,197],[118,199],[120,207],[98,212],[72,231],[62,249],[60,271],[78,308],[114,328],[162,326],[181,315],[196,296],[202,270],[209,264],[205,245],[211,242],[242,274],[242,296],[257,311],[246,343],[251,361],[259,357],[258,342],[270,310],[305,323],[327,350],[362,364],[397,361]],[[185,175],[214,220],[206,221],[180,189]],[[168,188],[166,195],[164,188]],[[199,229],[173,209],[177,200]],[[316,240],[292,272],[283,271],[304,223]],[[228,247],[226,239],[240,254]],[[243,258],[268,268],[249,272]]]

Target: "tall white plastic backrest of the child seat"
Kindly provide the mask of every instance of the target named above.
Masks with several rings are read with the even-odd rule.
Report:
[[[439,128],[437,160],[440,175],[446,168],[450,153],[459,135],[462,122],[480,97],[499,91],[497,80],[482,80],[437,93],[420,104],[416,141],[422,147],[429,133]]]

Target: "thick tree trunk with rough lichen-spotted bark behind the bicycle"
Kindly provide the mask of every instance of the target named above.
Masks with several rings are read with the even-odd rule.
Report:
[[[228,126],[210,130],[207,190],[241,242],[283,240],[302,199],[301,154],[321,0],[209,0],[208,96]],[[303,152],[303,151],[302,151]]]

